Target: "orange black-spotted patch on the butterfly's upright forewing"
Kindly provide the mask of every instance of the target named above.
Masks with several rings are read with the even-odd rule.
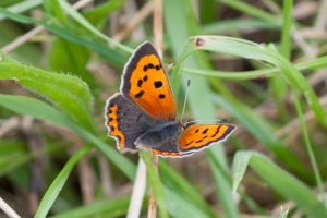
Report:
[[[130,77],[129,96],[154,119],[174,120],[175,102],[157,55],[146,55],[136,63]]]

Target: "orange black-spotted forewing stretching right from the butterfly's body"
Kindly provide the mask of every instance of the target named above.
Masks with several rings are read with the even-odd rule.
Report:
[[[225,140],[234,129],[231,124],[194,124],[181,133],[177,145],[181,152],[198,150]]]

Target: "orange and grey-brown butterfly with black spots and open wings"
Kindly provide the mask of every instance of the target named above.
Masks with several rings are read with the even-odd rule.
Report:
[[[229,123],[183,124],[175,121],[177,105],[154,46],[138,46],[124,66],[120,92],[105,108],[109,136],[121,152],[150,149],[153,155],[183,157],[226,140]]]

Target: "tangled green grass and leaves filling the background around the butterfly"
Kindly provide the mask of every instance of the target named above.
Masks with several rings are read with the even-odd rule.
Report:
[[[162,218],[327,217],[327,9],[303,2],[162,1],[178,117],[191,80],[185,117],[238,130],[157,173],[104,124],[124,63],[154,40],[154,2],[1,1],[0,199],[22,217],[125,217],[140,156],[143,217],[149,192]]]

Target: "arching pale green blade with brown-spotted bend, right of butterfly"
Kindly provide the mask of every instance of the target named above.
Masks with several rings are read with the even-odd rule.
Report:
[[[327,126],[327,114],[306,78],[275,49],[232,37],[196,36],[190,39],[185,52],[181,57],[181,60],[177,63],[177,69],[180,69],[182,60],[197,49],[266,61],[278,66],[281,71],[280,75],[292,86],[292,88],[294,88],[294,90],[300,92],[306,98],[306,101],[314,111],[317,120]]]

